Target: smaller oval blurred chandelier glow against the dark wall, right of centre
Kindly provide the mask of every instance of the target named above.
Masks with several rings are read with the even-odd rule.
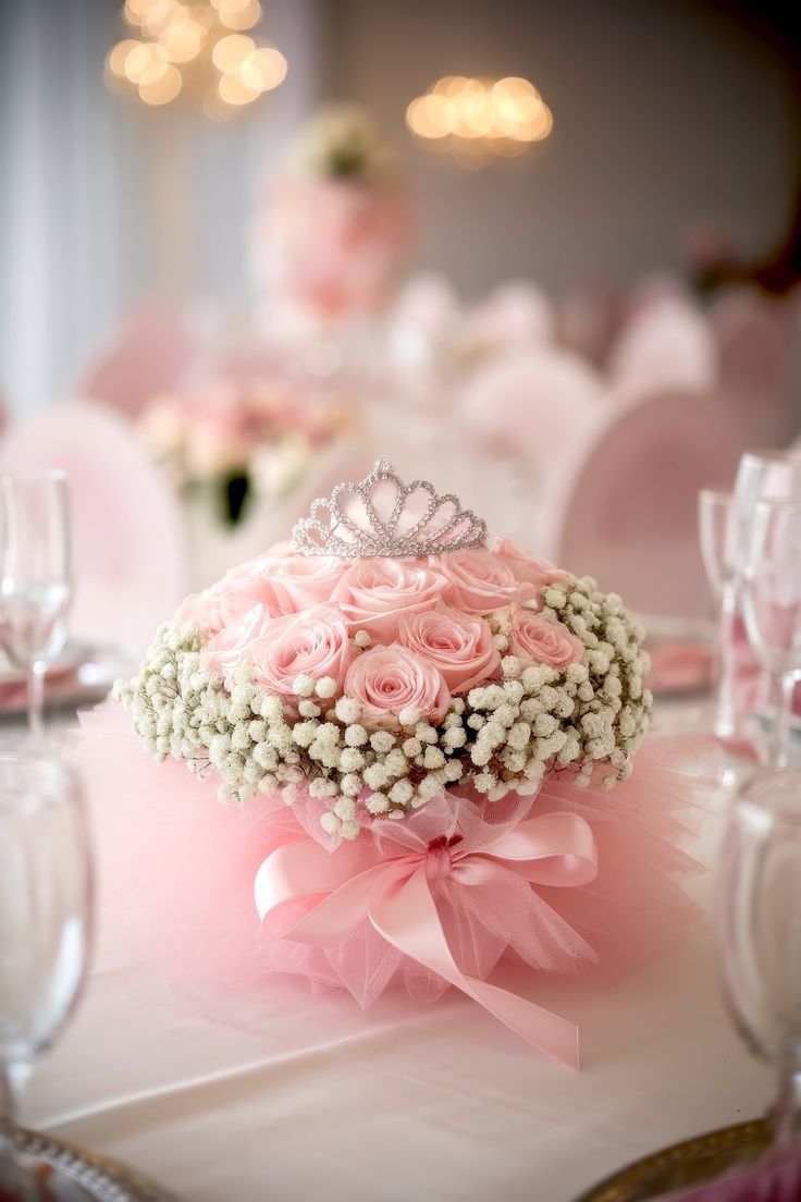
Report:
[[[458,157],[512,157],[551,132],[554,117],[527,79],[444,76],[406,109],[406,124],[432,150]]]

